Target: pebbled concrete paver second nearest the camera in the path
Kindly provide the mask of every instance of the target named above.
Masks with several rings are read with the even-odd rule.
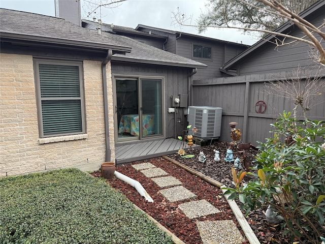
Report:
[[[207,200],[190,201],[178,205],[189,219],[194,219],[206,215],[216,214],[220,210],[214,207]]]

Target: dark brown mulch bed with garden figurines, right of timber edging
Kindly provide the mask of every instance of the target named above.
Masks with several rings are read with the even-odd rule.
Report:
[[[168,157],[221,182],[226,187],[233,188],[234,185],[232,183],[233,177],[231,173],[231,168],[234,167],[234,163],[228,163],[223,160],[226,157],[226,150],[229,147],[231,147],[233,150],[234,159],[236,159],[237,157],[242,159],[241,155],[239,155],[238,149],[236,149],[237,146],[224,141],[214,141],[211,145],[202,146],[200,149],[193,149],[191,151],[191,154],[195,155],[195,157],[190,159],[181,158],[177,154],[169,155]],[[214,150],[218,150],[220,153],[219,157],[221,160],[219,162],[214,162],[213,160]],[[207,159],[206,163],[199,162],[198,158],[200,151],[203,151],[203,153],[205,154]],[[248,166],[254,166],[255,155],[257,154],[257,150],[249,148],[245,150],[245,154]],[[243,170],[245,170],[244,165],[242,166]],[[246,174],[243,179],[243,182],[249,182],[252,179],[253,177],[251,175]],[[240,206],[240,202],[238,200],[236,200],[236,202],[238,206]],[[263,207],[261,209],[251,211],[246,217],[247,222],[249,223],[258,240],[262,244],[292,243],[292,241],[290,241],[290,238],[288,238],[287,236],[283,236],[283,230],[281,230],[280,224],[270,225],[267,223],[265,219],[266,209],[267,207]],[[243,214],[245,215],[245,211],[243,211]]]

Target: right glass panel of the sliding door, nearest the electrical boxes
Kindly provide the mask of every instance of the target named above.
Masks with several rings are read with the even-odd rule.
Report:
[[[163,134],[162,80],[141,79],[141,137]]]

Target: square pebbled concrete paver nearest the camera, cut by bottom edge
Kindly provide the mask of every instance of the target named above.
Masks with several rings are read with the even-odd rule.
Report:
[[[203,244],[241,244],[245,240],[232,220],[198,221]]]

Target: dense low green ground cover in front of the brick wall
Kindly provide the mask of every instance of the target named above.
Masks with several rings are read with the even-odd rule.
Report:
[[[121,193],[78,169],[0,178],[0,243],[173,243]]]

